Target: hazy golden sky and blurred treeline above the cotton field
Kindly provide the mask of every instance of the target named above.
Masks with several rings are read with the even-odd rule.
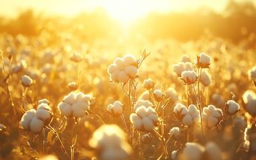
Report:
[[[110,41],[186,42],[222,37],[253,42],[253,0],[0,0],[0,32],[17,36],[80,37],[85,43]],[[251,46],[255,47],[255,45]]]

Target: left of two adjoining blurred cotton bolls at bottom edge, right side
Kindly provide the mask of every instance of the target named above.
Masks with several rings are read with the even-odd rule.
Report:
[[[198,143],[186,143],[186,147],[182,151],[182,159],[184,160],[200,160],[204,147]]]

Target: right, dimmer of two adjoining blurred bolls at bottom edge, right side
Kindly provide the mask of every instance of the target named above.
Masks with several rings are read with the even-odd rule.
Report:
[[[205,146],[209,160],[222,160],[221,151],[218,145],[213,142],[208,142]]]

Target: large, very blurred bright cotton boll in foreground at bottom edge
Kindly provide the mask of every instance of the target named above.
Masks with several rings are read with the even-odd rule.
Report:
[[[117,125],[102,125],[94,131],[89,145],[97,150],[99,159],[129,159],[131,146],[124,137],[125,133]]]

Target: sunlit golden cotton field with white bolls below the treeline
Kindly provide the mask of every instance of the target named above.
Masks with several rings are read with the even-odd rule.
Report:
[[[62,20],[0,33],[0,159],[256,159],[255,33],[114,41]]]

